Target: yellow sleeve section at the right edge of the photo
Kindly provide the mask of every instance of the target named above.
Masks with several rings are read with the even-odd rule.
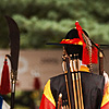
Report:
[[[105,94],[104,94],[104,97],[102,97],[101,107],[104,105],[106,105],[107,102],[109,102],[109,83],[106,84],[106,86],[105,86]]]

